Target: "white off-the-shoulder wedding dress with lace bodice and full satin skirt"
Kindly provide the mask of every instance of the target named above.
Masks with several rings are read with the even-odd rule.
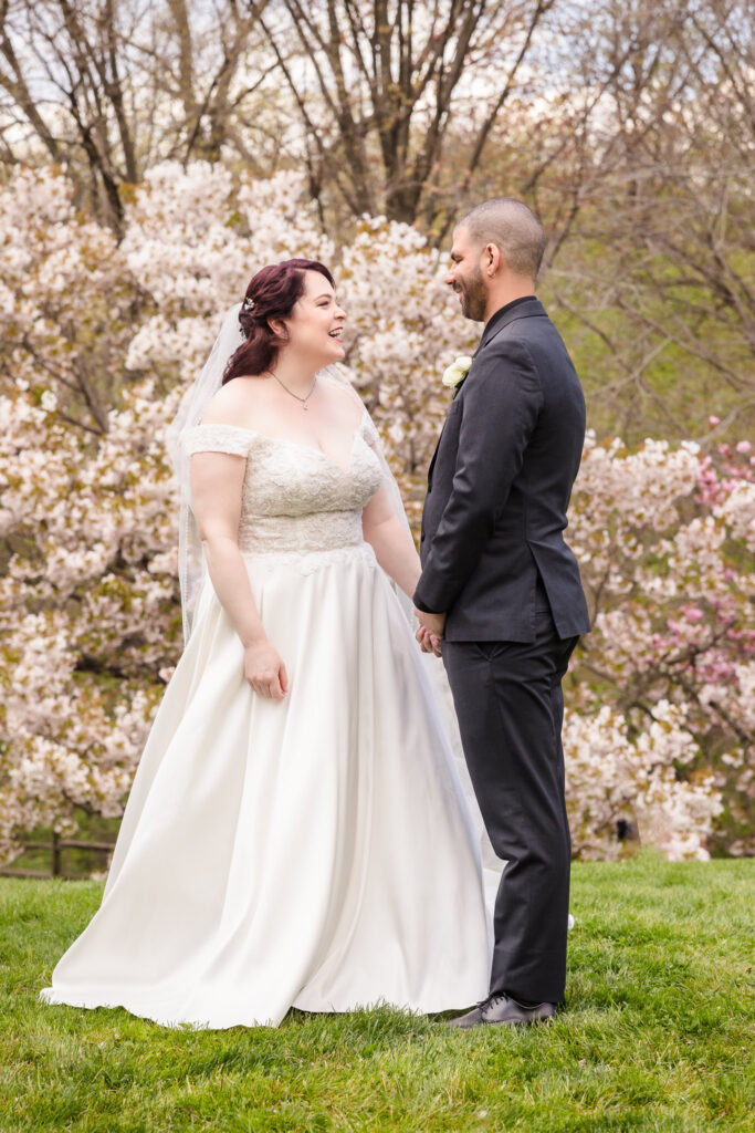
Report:
[[[290,689],[251,691],[206,579],[102,906],[48,1003],[228,1028],[487,994],[479,840],[427,658],[362,537],[376,440],[364,414],[343,468],[243,428],[188,431],[190,452],[247,457],[239,543]]]

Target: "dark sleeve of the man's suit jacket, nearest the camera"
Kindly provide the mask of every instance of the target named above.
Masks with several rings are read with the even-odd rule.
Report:
[[[475,360],[463,394],[453,487],[414,594],[428,613],[451,610],[480,562],[543,401],[526,347],[512,341]]]

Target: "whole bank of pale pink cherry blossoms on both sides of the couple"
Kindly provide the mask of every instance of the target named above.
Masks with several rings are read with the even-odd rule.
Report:
[[[302,179],[158,165],[123,239],[67,179],[0,188],[0,853],[81,809],[117,817],[181,649],[165,431],[224,310],[264,263],[336,271],[346,364],[412,519],[474,327],[414,228],[364,216],[335,246]],[[570,539],[594,617],[565,723],[575,852],[638,825],[668,857],[748,852],[755,484],[747,442],[705,454],[591,436]],[[717,841],[718,838],[718,841]]]

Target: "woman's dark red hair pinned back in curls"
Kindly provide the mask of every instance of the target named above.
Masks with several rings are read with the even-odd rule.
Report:
[[[271,368],[285,339],[275,333],[269,320],[291,315],[294,304],[304,293],[304,272],[319,272],[331,287],[335,287],[333,275],[317,259],[283,259],[252,275],[239,312],[239,323],[247,340],[229,358],[223,385],[234,377],[261,374]]]

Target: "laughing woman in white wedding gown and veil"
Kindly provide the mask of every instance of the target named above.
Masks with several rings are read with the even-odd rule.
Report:
[[[228,1028],[487,994],[479,844],[389,581],[412,595],[419,559],[327,369],[344,317],[323,264],[263,269],[180,415],[206,566],[196,603],[182,570],[187,647],[48,1003]]]

